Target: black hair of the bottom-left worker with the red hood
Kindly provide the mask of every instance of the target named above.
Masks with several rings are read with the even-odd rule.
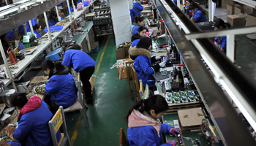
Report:
[[[26,98],[26,93],[16,92],[10,96],[10,103],[12,106],[24,107],[24,105],[28,102]]]

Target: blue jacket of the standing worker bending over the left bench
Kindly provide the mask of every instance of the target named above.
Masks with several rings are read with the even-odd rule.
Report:
[[[76,72],[81,72],[89,66],[95,66],[94,59],[81,50],[67,50],[64,53],[62,65],[72,67]]]

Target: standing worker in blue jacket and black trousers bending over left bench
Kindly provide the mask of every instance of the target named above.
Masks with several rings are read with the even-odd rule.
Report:
[[[65,49],[62,64],[80,72],[80,79],[83,82],[83,91],[86,94],[87,103],[93,104],[91,95],[90,78],[94,74],[95,62],[87,53],[81,51],[81,46],[77,44],[69,45]]]

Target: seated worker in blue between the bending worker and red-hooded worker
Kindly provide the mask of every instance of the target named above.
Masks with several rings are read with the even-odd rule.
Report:
[[[73,76],[69,74],[69,69],[63,66],[60,61],[53,64],[53,61],[48,59],[42,61],[41,69],[50,77],[45,85],[45,92],[51,95],[50,100],[45,100],[50,106],[50,111],[56,113],[59,106],[67,108],[75,104],[78,91]]]

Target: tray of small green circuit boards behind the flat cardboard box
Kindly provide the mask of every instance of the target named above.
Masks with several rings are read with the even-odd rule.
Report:
[[[166,92],[165,99],[168,104],[187,103],[187,102],[200,101],[200,96],[197,91]]]

